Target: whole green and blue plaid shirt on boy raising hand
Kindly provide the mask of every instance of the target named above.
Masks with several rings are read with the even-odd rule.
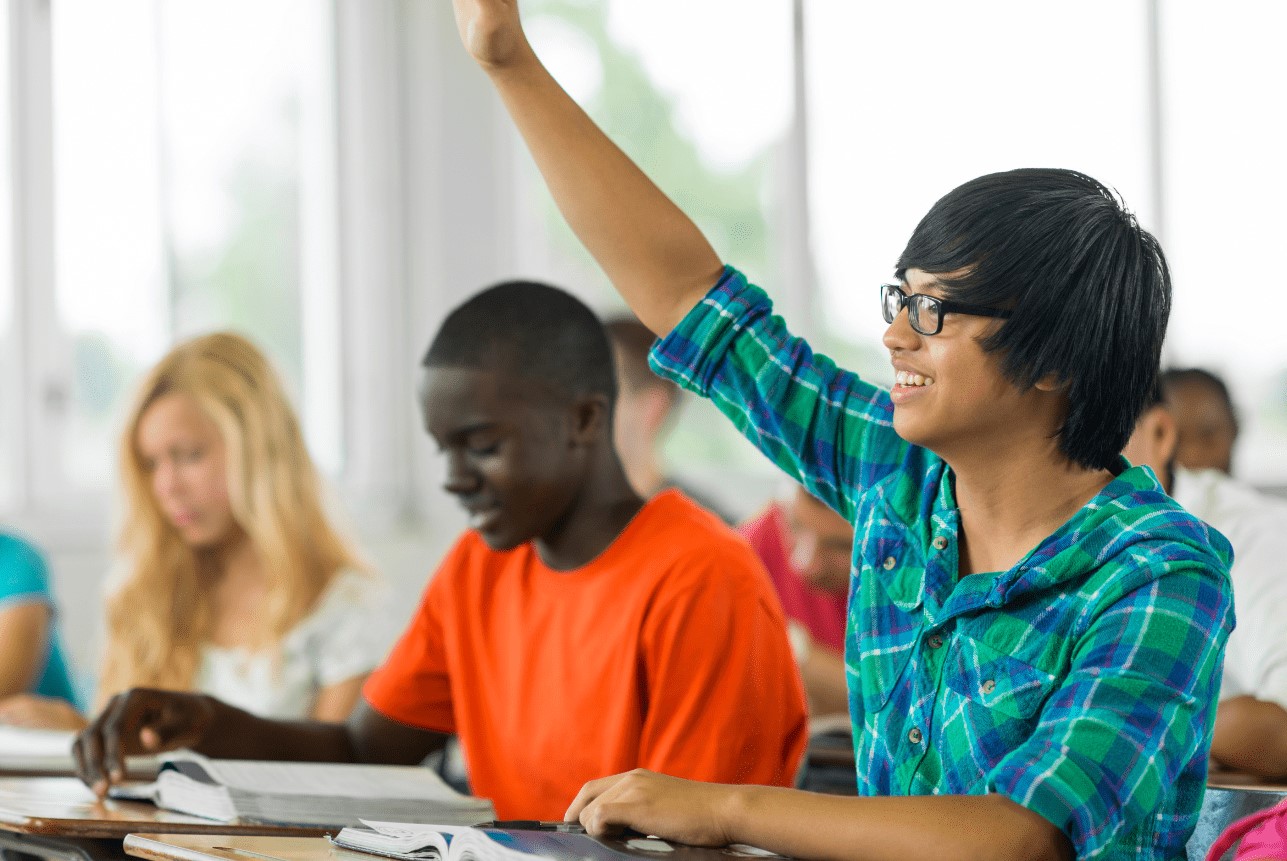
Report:
[[[1079,857],[1183,857],[1233,627],[1219,533],[1124,461],[1014,568],[958,582],[947,465],[739,272],[653,366],[855,524],[846,660],[862,794],[1000,793]]]

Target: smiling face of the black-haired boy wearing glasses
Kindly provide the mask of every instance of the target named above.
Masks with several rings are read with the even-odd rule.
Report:
[[[938,279],[920,269],[907,270],[903,290],[946,299]],[[1064,409],[1058,386],[1044,381],[1019,391],[1006,380],[999,358],[979,344],[997,326],[991,318],[951,313],[938,335],[927,336],[911,328],[906,309],[898,313],[884,345],[894,368],[891,396],[900,436],[949,462],[1004,457],[1022,440],[1054,448],[1051,436]]]

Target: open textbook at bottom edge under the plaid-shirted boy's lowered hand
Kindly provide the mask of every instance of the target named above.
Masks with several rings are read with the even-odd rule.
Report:
[[[331,842],[345,849],[400,861],[734,861],[781,858],[752,846],[707,848],[671,843],[655,837],[589,837],[575,822],[498,822],[489,828],[417,825],[363,820],[364,828],[346,828]]]

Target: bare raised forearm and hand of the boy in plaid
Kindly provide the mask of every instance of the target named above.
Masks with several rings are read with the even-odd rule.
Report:
[[[719,277],[710,243],[546,71],[516,0],[453,3],[568,224],[644,324],[667,335]]]

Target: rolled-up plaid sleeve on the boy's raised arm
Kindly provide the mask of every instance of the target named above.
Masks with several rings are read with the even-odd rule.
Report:
[[[889,393],[813,353],[772,310],[764,291],[725,266],[654,346],[653,369],[714,402],[773,463],[852,520],[865,489],[892,472],[924,472],[932,456],[894,432]]]

